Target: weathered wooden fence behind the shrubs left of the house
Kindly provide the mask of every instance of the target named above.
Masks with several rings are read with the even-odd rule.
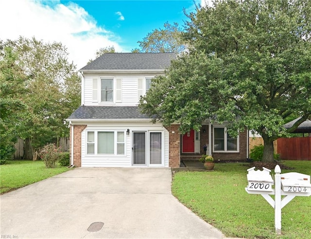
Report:
[[[69,137],[58,138],[58,142],[55,139],[52,143],[60,146],[63,152],[69,152]],[[23,140],[18,138],[15,149],[13,159],[33,159],[33,148],[30,139]]]

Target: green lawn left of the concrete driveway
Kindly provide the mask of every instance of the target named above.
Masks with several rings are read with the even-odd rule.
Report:
[[[47,169],[43,161],[10,160],[0,165],[0,194],[22,188],[70,169],[58,166]]]

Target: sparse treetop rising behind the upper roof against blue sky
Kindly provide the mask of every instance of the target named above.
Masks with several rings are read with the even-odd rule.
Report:
[[[140,49],[135,48],[132,52],[183,52],[185,45],[182,43],[181,32],[178,23],[171,25],[166,22],[164,29],[155,29],[142,41],[138,41]]]

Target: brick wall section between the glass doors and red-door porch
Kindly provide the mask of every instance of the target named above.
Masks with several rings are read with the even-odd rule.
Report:
[[[179,125],[171,125],[166,127],[169,131],[169,167],[178,168],[180,166],[180,134],[178,131]]]

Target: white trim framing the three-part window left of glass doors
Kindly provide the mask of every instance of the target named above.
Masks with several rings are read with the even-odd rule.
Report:
[[[94,154],[87,154],[87,132],[94,132]],[[98,154],[98,132],[114,132],[114,153],[113,154]],[[118,132],[123,132],[124,134],[124,154],[118,154],[117,147],[118,147]],[[126,157],[126,131],[125,130],[86,130],[86,156],[117,156],[117,157]]]

